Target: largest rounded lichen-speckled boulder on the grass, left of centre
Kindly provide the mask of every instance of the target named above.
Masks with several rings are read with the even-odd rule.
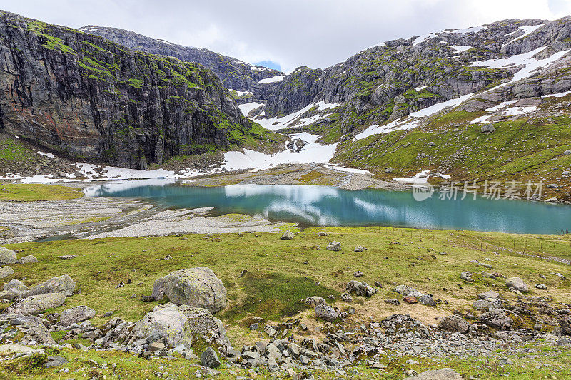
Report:
[[[210,268],[181,269],[155,281],[152,297],[187,304],[211,313],[226,307],[226,287]]]

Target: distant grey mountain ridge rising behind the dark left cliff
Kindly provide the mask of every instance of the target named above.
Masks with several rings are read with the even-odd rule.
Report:
[[[200,63],[206,66],[206,68],[211,69],[211,71],[220,78],[226,88],[231,88],[236,91],[248,91],[257,94],[260,91],[260,87],[267,87],[260,86],[259,81],[264,78],[283,75],[281,71],[262,66],[253,66],[236,58],[214,53],[206,48],[181,46],[176,43],[149,38],[124,29],[89,25],[79,30],[101,36],[133,50],[146,51],[151,54],[175,57],[182,61]]]

